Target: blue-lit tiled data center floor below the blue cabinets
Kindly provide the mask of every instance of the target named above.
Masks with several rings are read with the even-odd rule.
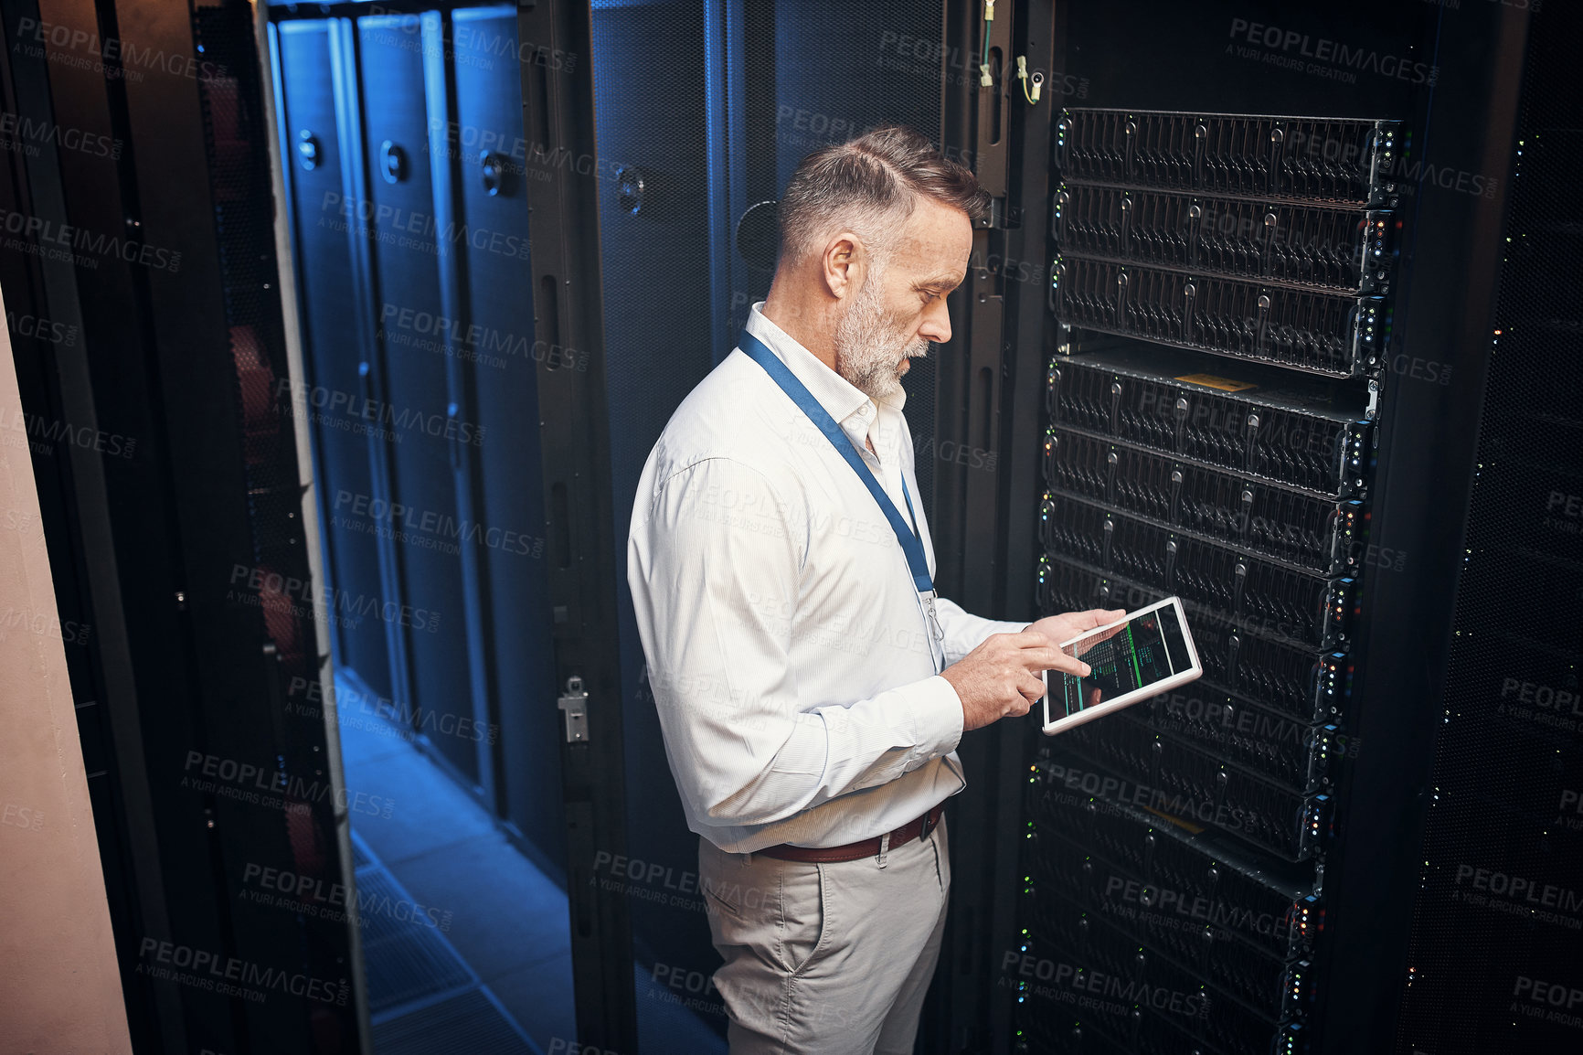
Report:
[[[380,806],[351,809],[375,1055],[568,1050],[565,892],[396,726],[348,711],[340,751],[348,803]],[[723,1055],[641,966],[636,987],[644,1052]]]

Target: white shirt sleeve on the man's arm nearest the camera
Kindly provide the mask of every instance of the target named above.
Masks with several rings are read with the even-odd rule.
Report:
[[[864,700],[799,699],[790,651],[804,521],[728,458],[671,475],[633,512],[627,580],[649,684],[700,824],[782,821],[961,740],[962,705],[940,676]]]

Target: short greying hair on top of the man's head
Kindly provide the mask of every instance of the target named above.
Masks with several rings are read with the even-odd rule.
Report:
[[[972,171],[912,128],[885,125],[820,147],[796,166],[780,198],[780,258],[799,260],[839,230],[883,257],[920,196],[975,222],[989,209],[989,193]]]

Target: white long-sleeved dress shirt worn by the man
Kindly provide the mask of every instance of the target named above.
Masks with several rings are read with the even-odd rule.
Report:
[[[905,478],[932,577],[905,393],[875,404],[761,306],[747,331],[852,437],[909,520]],[[741,348],[649,453],[627,581],[687,824],[730,852],[866,840],[959,792],[962,705],[936,662],[1026,626],[940,599],[934,643],[874,496]]]

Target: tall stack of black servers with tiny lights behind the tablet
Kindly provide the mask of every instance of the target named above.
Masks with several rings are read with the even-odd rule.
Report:
[[[1037,749],[1018,1050],[1309,1050],[1401,135],[1056,122],[1038,604],[1175,594],[1205,675]]]

